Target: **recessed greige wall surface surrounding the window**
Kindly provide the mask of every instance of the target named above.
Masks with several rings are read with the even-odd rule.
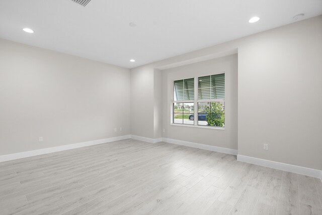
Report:
[[[225,128],[171,125],[173,81],[225,73]],[[237,54],[163,70],[164,137],[193,143],[237,149]],[[197,107],[195,107],[196,109]]]

